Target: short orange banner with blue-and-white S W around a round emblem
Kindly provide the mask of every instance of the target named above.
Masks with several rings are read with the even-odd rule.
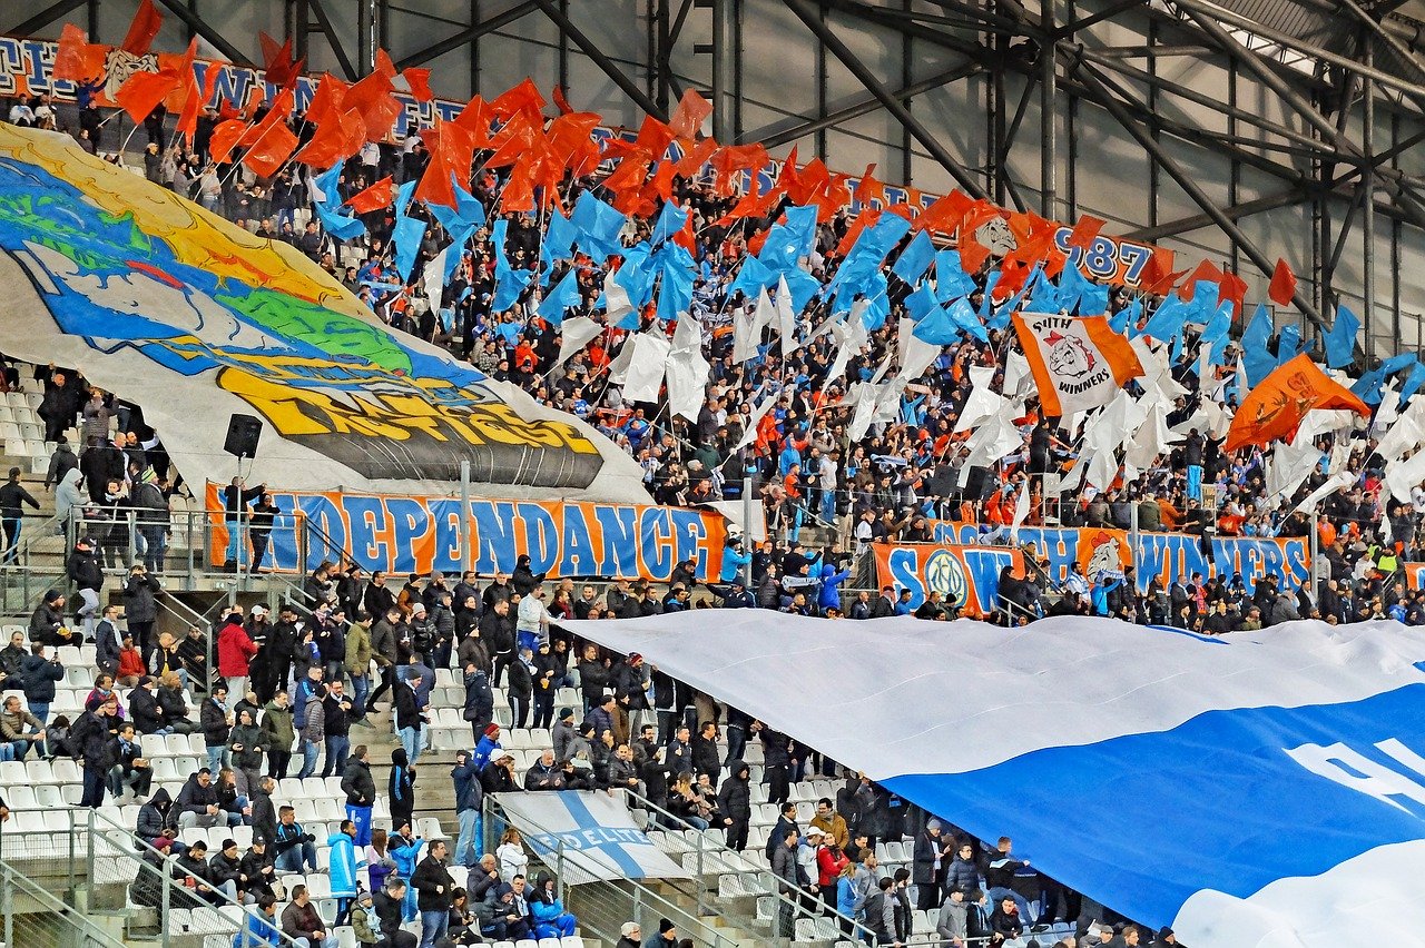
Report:
[[[911,605],[939,592],[945,602],[988,613],[999,608],[999,574],[1025,568],[1023,555],[1009,547],[936,547],[935,544],[872,544],[876,585],[911,591]]]

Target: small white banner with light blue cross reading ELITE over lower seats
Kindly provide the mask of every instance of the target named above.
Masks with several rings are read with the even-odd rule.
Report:
[[[566,885],[624,878],[688,878],[633,821],[621,793],[502,793],[500,807]]]

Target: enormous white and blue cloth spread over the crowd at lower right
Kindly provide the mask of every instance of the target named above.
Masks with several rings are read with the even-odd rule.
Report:
[[[1425,631],[566,622],[1190,945],[1425,932]]]

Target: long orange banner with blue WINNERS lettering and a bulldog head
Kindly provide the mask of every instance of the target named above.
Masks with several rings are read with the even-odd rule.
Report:
[[[980,542],[980,528],[975,524],[942,520],[935,521],[932,530],[935,541],[942,545]],[[1131,564],[1140,591],[1149,588],[1153,576],[1167,588],[1178,576],[1190,579],[1194,572],[1224,581],[1241,574],[1248,592],[1268,575],[1288,589],[1311,578],[1311,541],[1305,537],[1213,537],[1204,549],[1203,538],[1193,534],[1140,532],[1134,551],[1126,530],[1020,527],[1019,542],[1032,544],[1049,559],[1049,575],[1056,584],[1064,581],[1073,562],[1083,567],[1090,579],[1103,569],[1121,569]]]

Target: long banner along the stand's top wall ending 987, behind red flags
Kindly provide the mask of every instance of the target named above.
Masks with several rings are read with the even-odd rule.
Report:
[[[58,100],[73,100],[77,91],[76,84],[67,80],[56,80],[53,77],[54,56],[57,50],[58,44],[53,40],[0,37],[0,98],[40,95],[43,93],[48,93]],[[113,95],[118,90],[118,81],[121,78],[127,78],[127,75],[134,70],[144,68],[157,68],[157,63],[148,64],[141,58],[128,57],[123,73],[115,74],[115,70],[110,70],[110,74],[105,77],[107,81],[101,85],[101,88]],[[198,88],[205,87],[208,71],[214,68],[218,70],[212,83],[214,95],[212,100],[207,102],[214,108],[228,105],[235,110],[242,110],[252,104],[254,100],[271,104],[279,91],[278,87],[269,85],[264,80],[264,71],[259,68],[234,65],[231,63],[212,60],[194,61],[194,73],[197,75]],[[312,97],[316,94],[316,78],[298,75],[292,91],[292,111],[306,111],[308,105],[312,102]],[[405,137],[412,131],[429,128],[437,118],[440,121],[452,121],[466,105],[465,101],[443,98],[419,101],[413,95],[400,91],[392,94],[400,105],[400,111],[396,114],[395,127],[392,128],[392,134],[398,138]],[[637,138],[633,131],[607,127],[594,128],[593,135],[600,144],[614,137],[626,138],[628,141],[634,141]],[[668,154],[673,159],[683,158],[683,149],[675,142],[670,147]],[[737,186],[744,192],[752,189],[755,179],[757,192],[767,194],[777,182],[779,167],[779,162],[771,161],[764,168],[755,171],[740,171],[734,179]],[[849,189],[855,189],[858,184],[861,184],[859,177],[852,175],[846,178],[846,186]],[[848,206],[852,214],[856,214],[862,206],[889,208],[901,204],[908,205],[912,214],[919,214],[925,208],[935,204],[936,199],[938,195],[931,192],[918,191],[915,188],[885,185],[884,199],[872,198],[866,201],[865,205],[852,199]],[[1107,283],[1139,286],[1147,269],[1147,263],[1153,258],[1151,245],[1094,235],[1092,239],[1086,241],[1083,246],[1079,246],[1070,245],[1072,233],[1073,226],[1064,223],[1059,225],[1053,233],[1054,246],[1074,265],[1077,265],[1083,273]],[[955,233],[940,236],[948,242],[955,243],[959,235]],[[976,239],[985,246],[992,248],[996,253],[1009,253],[1019,248],[1019,238],[1016,238],[1013,228],[1006,223],[1003,218],[992,218],[985,222],[976,229]]]

